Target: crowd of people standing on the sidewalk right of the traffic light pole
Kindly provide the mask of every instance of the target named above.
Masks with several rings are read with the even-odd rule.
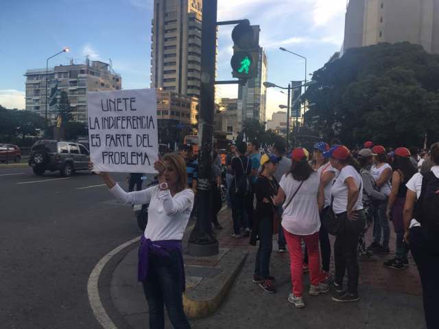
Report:
[[[313,146],[312,156],[302,147],[285,156],[283,141],[268,152],[259,152],[257,146],[237,143],[226,160],[232,236],[251,233],[250,244],[259,241],[253,282],[267,293],[276,292],[270,256],[272,237],[278,233],[278,251],[287,249],[290,258],[289,302],[305,306],[305,271],[310,276],[309,295],[333,287],[335,302],[355,302],[358,260],[390,254],[392,222],[395,253],[383,266],[406,269],[412,251],[423,285],[427,328],[439,328],[434,311],[439,306],[439,143],[419,151],[385,149],[368,141],[363,149],[351,151],[338,141],[331,146],[320,142]],[[373,239],[367,246],[370,226]],[[333,246],[329,234],[335,235]]]

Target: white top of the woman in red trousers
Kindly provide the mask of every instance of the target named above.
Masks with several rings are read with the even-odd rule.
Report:
[[[282,176],[279,185],[285,192],[284,207],[297,191],[300,183],[294,180],[291,173]],[[310,235],[320,230],[317,200],[319,185],[320,175],[315,172],[303,182],[292,202],[283,210],[282,227],[285,230],[296,235]]]

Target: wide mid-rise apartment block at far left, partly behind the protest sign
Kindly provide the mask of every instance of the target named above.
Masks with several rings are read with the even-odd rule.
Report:
[[[26,110],[45,117],[46,111],[46,69],[30,69],[26,77]],[[107,63],[86,59],[85,64],[59,65],[49,69],[47,74],[47,99],[59,99],[65,91],[69,97],[74,121],[87,121],[87,92],[98,90],[120,90],[121,76]],[[51,95],[53,94],[53,95]],[[52,122],[58,117],[57,106],[47,104],[47,118]]]

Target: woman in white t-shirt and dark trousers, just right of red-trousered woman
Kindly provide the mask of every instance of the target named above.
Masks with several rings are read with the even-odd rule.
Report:
[[[334,286],[338,295],[333,297],[333,301],[356,302],[359,300],[357,249],[359,236],[366,225],[359,164],[348,148],[342,145],[332,147],[326,154],[332,167],[340,171],[331,188],[332,209],[341,227],[334,243]],[[345,271],[348,272],[347,290],[342,287]]]

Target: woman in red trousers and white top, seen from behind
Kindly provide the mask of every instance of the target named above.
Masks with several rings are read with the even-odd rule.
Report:
[[[302,147],[292,151],[291,170],[283,175],[274,199],[275,204],[283,203],[284,209],[281,224],[287,240],[293,285],[288,301],[298,308],[305,306],[302,299],[302,239],[308,249],[309,295],[327,293],[330,289],[328,284],[322,282],[318,250],[319,207],[323,206],[324,196],[319,192],[320,175],[313,171],[308,158],[308,151]]]

